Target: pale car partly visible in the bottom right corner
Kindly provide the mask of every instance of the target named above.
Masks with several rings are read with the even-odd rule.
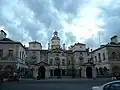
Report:
[[[111,81],[101,86],[94,86],[91,90],[120,90],[120,80]]]

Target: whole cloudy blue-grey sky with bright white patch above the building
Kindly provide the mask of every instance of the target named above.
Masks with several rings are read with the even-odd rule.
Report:
[[[9,38],[47,47],[55,29],[61,44],[91,48],[120,36],[120,0],[0,0],[0,27]]]

